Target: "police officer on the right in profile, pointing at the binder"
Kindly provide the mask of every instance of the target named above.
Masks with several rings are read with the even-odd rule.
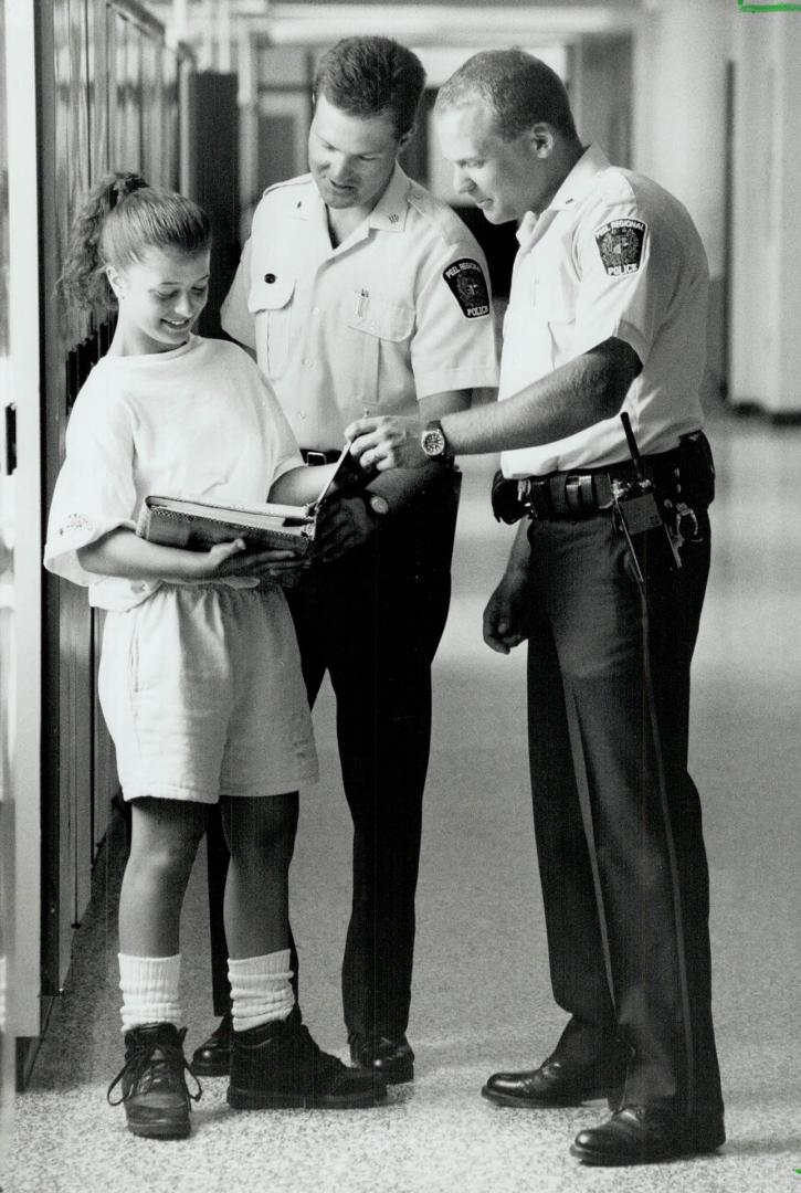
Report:
[[[495,509],[526,515],[485,637],[503,653],[529,642],[550,973],[571,1016],[538,1068],[493,1074],[482,1092],[537,1111],[608,1096],[611,1119],[573,1144],[585,1163],[710,1151],[723,1107],[688,773],[714,475],[700,431],[703,246],[672,196],[584,149],[560,80],[529,55],[476,55],[436,113],[464,193],[494,223],[520,221],[500,401],[444,416],[421,447],[505,449]],[[349,429],[382,468],[424,458],[417,432]]]

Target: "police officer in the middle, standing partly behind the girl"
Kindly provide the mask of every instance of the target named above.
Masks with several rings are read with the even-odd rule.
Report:
[[[387,38],[347,38],[324,56],[312,173],[265,192],[223,304],[224,329],[254,350],[310,463],[335,458],[365,408],[427,418],[498,382],[481,251],[396,162],[424,78],[417,57]],[[324,562],[288,592],[309,699],[326,672],[333,684],[353,818],[343,964],[351,1056],[390,1082],[413,1076],[406,1028],[431,663],[450,599],[458,481],[448,462],[374,477],[334,506]],[[221,851],[212,842],[210,852],[216,890]],[[211,909],[222,1013],[215,891]],[[197,1050],[198,1071],[224,1069],[228,1038],[226,1019]]]

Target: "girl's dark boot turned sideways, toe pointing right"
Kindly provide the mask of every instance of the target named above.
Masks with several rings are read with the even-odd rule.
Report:
[[[234,1109],[350,1109],[387,1094],[377,1074],[322,1052],[295,1007],[277,1022],[233,1032],[228,1102]]]

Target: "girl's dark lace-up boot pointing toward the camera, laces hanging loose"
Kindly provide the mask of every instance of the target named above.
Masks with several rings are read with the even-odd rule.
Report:
[[[201,1098],[201,1083],[193,1076],[197,1092],[190,1094],[184,1071],[191,1069],[184,1057],[186,1028],[174,1024],[144,1024],[125,1032],[125,1064],[109,1086],[111,1106],[125,1107],[128,1130],[153,1139],[183,1139],[190,1132],[190,1099]],[[121,1096],[111,1098],[119,1086]]]

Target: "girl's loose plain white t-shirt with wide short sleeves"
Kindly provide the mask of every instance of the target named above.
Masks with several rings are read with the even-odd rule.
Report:
[[[258,503],[302,463],[275,394],[238,345],[191,335],[172,352],[103,357],[69,416],[44,565],[87,585],[91,605],[133,608],[161,581],[85,571],[79,548],[117,526],[135,530],[149,494]]]

